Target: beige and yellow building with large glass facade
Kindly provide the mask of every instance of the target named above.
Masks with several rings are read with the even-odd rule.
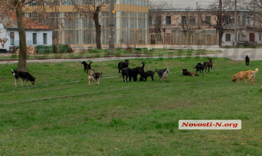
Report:
[[[74,2],[81,5],[81,1]],[[48,9],[47,20],[39,22],[51,24],[57,29],[54,36],[58,36],[59,43],[95,45],[94,21],[76,12],[71,0],[54,3],[54,0],[47,1],[47,6],[56,5],[56,9]],[[105,3],[106,10],[99,14],[102,46],[109,42],[109,0]],[[39,18],[35,12],[37,5],[37,1],[34,1],[26,6],[26,17]],[[148,0],[115,0],[115,44],[148,44]]]

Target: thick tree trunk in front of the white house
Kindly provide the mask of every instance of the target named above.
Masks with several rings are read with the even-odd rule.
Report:
[[[19,34],[19,60],[18,70],[27,70],[27,41],[23,22],[22,4],[16,4],[16,19]]]

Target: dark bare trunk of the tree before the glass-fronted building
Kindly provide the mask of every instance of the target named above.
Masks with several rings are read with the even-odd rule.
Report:
[[[94,22],[96,27],[96,44],[97,49],[102,49],[101,45],[101,25],[99,24],[99,12],[100,12],[100,6],[97,6],[96,12],[94,13]]]

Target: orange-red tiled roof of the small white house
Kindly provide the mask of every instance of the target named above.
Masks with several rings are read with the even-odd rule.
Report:
[[[14,21],[15,24],[17,24],[15,12],[7,12],[5,14],[8,15],[9,18],[11,18],[12,21]],[[36,22],[36,21],[29,19],[27,17],[23,17],[23,21],[24,21],[25,29],[51,29],[50,26],[41,24],[41,23]]]

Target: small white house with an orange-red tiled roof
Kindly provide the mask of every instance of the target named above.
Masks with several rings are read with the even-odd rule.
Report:
[[[19,46],[19,33],[15,12],[8,12],[7,14],[0,20],[0,49],[9,51],[10,46]],[[23,17],[23,21],[27,46],[50,46],[53,44],[53,30],[48,25],[43,25],[26,17]]]

